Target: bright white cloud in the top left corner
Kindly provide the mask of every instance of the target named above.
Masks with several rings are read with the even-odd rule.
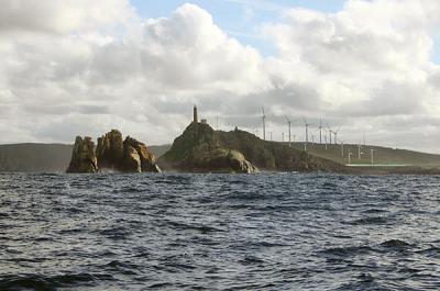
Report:
[[[70,33],[128,23],[135,16],[127,0],[4,0],[0,31]]]

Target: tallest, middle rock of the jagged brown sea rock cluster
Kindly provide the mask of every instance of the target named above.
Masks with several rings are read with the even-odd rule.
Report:
[[[124,149],[121,132],[112,130],[98,138],[96,156],[100,169],[119,169],[123,154]]]

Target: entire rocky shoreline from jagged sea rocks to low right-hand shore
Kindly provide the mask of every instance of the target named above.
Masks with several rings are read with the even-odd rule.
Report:
[[[310,155],[245,131],[215,131],[191,122],[157,160],[145,144],[112,130],[97,139],[77,136],[67,172],[334,172],[346,175],[440,175],[437,168],[355,168]]]

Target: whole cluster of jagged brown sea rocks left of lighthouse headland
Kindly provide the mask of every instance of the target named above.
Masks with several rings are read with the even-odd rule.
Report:
[[[105,169],[121,172],[161,171],[154,155],[148,150],[145,144],[130,136],[122,142],[122,134],[117,130],[112,130],[102,137],[99,137],[96,150],[91,138],[86,138],[88,145],[82,152],[87,153],[87,158],[84,158],[86,154],[78,154],[82,153],[79,148],[84,148],[84,142],[81,142],[82,139],[80,137],[79,139],[77,137],[68,172],[96,172]],[[89,165],[86,163],[89,160],[89,156],[94,156],[95,158],[95,167],[92,167],[95,170],[89,170]]]

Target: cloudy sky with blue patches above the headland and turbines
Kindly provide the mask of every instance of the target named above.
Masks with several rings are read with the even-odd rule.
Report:
[[[437,0],[3,0],[0,144],[220,130],[440,153]],[[218,121],[218,122],[217,122]],[[315,137],[317,138],[317,137]]]

